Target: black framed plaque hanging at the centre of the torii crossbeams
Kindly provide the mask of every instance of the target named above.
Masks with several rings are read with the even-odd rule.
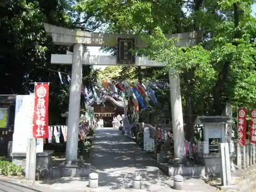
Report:
[[[135,48],[134,38],[117,38],[117,64],[135,64],[135,55],[130,51]]]

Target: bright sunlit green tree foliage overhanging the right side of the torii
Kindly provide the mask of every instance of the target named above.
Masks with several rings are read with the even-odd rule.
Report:
[[[79,7],[84,12],[94,11],[96,19],[104,17],[109,24],[106,32],[143,35],[149,46],[138,53],[168,61],[165,69],[151,71],[151,78],[168,78],[170,67],[180,72],[188,138],[196,115],[221,115],[226,102],[255,107],[253,3],[88,0]],[[202,30],[204,35],[201,44],[191,48],[174,47],[163,35],[193,30]]]

